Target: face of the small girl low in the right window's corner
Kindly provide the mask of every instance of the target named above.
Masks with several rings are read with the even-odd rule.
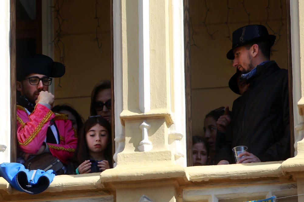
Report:
[[[192,146],[193,166],[205,166],[208,160],[207,150],[203,143]]]

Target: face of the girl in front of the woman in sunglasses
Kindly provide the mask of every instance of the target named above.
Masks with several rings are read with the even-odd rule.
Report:
[[[96,124],[85,134],[85,138],[90,152],[102,153],[108,145],[109,132],[105,127]]]

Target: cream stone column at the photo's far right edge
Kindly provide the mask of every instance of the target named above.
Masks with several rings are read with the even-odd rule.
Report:
[[[282,163],[284,174],[292,174],[297,181],[298,200],[304,200],[304,2],[290,1],[292,40],[292,80],[295,125],[295,157]],[[297,102],[298,101],[298,102]]]

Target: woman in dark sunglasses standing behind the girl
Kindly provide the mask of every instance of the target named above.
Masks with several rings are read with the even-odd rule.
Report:
[[[91,94],[91,116],[100,115],[111,124],[111,82],[102,80],[95,85]]]

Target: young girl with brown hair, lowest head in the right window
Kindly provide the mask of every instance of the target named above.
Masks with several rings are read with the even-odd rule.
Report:
[[[192,137],[192,164],[205,166],[209,159],[209,145],[204,137]]]

